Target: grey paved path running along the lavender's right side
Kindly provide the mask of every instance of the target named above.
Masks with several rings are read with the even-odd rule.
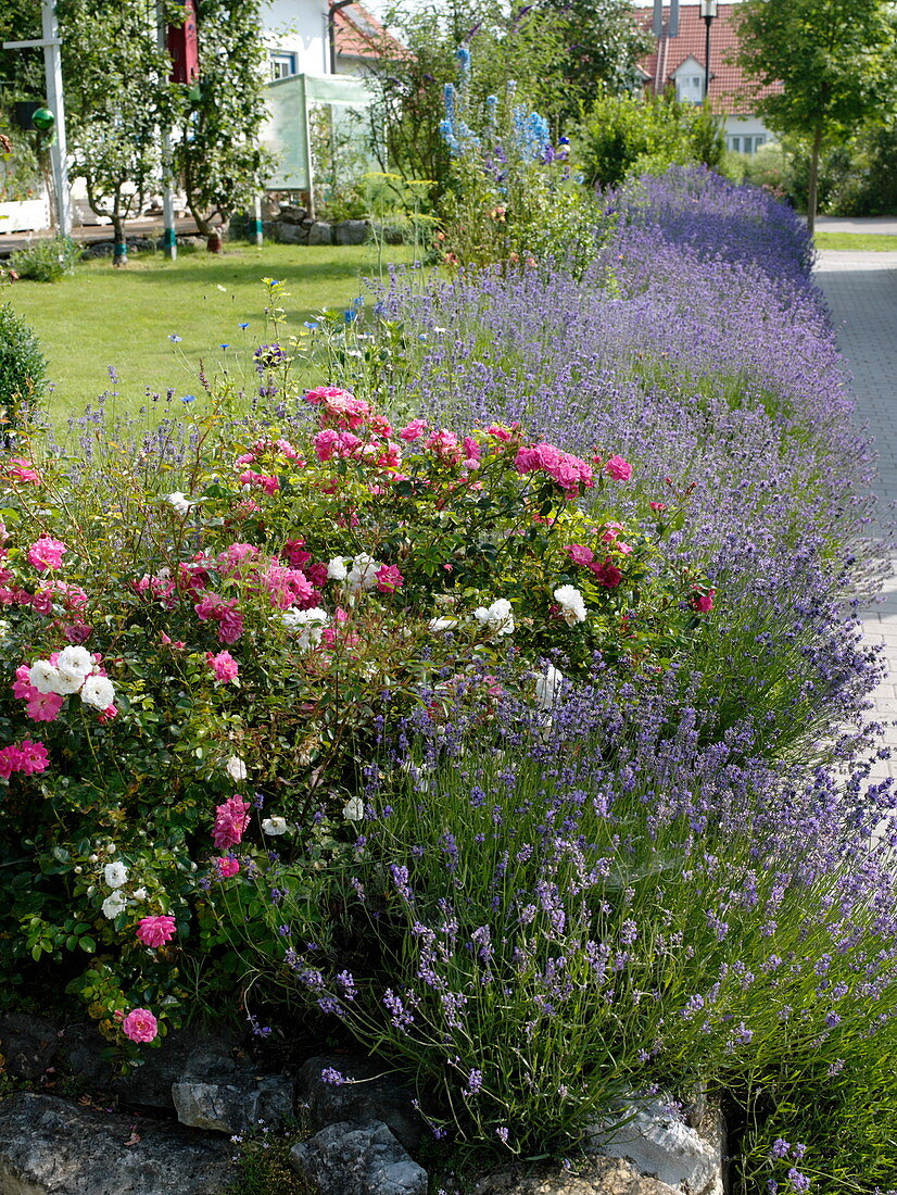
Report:
[[[876,491],[887,519],[897,503],[897,252],[823,250],[816,266],[838,345],[853,374],[856,416],[878,453]],[[880,528],[879,528],[880,529]],[[885,742],[895,752],[873,776],[897,776],[897,554],[881,601],[862,612],[867,636],[881,643],[889,675],[872,694],[880,719],[890,723]]]

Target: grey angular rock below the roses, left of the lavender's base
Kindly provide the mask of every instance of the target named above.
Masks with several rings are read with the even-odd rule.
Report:
[[[183,1079],[172,1099],[182,1124],[217,1133],[241,1133],[263,1121],[282,1128],[293,1115],[294,1083],[277,1074],[234,1074],[225,1083]]]

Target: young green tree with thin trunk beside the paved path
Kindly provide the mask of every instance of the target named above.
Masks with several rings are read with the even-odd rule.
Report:
[[[807,143],[807,222],[816,223],[819,154],[897,96],[897,16],[890,0],[747,0],[738,60],[761,86],[757,111],[775,133]]]

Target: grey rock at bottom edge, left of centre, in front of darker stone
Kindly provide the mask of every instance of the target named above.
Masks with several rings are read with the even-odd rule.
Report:
[[[426,1171],[381,1121],[342,1121],[290,1150],[290,1166],[321,1195],[426,1195]]]

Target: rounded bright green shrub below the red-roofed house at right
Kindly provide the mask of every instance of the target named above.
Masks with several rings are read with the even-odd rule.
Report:
[[[672,94],[601,96],[575,143],[586,184],[604,188],[672,165],[718,166],[725,147],[709,110],[682,104]]]

